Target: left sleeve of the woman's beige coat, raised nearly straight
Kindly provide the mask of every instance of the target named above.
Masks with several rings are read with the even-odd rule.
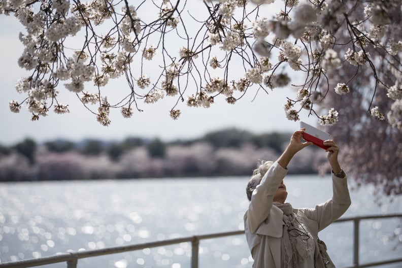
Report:
[[[287,169],[282,168],[280,164],[274,162],[254,189],[249,209],[246,213],[247,225],[250,232],[255,233],[261,223],[269,217],[273,206],[274,194],[286,173]]]

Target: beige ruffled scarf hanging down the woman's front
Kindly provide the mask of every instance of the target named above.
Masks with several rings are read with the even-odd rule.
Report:
[[[283,211],[282,268],[298,268],[308,256],[314,254],[314,241],[303,220],[293,213],[292,205],[274,202]]]

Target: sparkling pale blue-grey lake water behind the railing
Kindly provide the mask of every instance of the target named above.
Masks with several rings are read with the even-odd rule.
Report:
[[[248,177],[67,181],[0,184],[0,262],[102,249],[243,229]],[[332,194],[329,176],[287,176],[287,202],[313,207]],[[353,182],[349,182],[350,189]],[[402,197],[376,204],[374,187],[351,190],[345,216],[401,213]],[[399,258],[400,219],[360,223],[360,263]],[[337,267],[352,264],[353,225],[334,223],[320,232]],[[80,259],[78,267],[190,266],[191,244],[182,243]],[[400,267],[402,264],[382,267]],[[65,262],[47,265],[66,267]],[[243,235],[200,242],[199,267],[251,267]],[[46,266],[44,266],[46,267]]]

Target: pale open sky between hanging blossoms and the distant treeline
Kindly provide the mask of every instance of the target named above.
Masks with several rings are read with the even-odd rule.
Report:
[[[58,90],[60,94],[65,94],[63,104],[69,104],[70,113],[58,115],[51,110],[47,117],[31,121],[26,107],[20,113],[12,113],[9,109],[10,101],[24,98],[15,90],[15,83],[28,74],[17,63],[23,52],[18,35],[25,30],[13,16],[4,14],[0,15],[0,25],[0,144],[12,145],[25,138],[37,142],[55,139],[80,141],[86,138],[123,140],[127,137],[171,141],[199,138],[210,131],[229,127],[255,134],[291,132],[299,128],[299,122],[287,120],[283,109],[286,96],[294,97],[293,88],[277,88],[269,91],[269,94],[261,91],[255,98],[250,91],[235,105],[227,104],[223,97],[217,97],[215,104],[208,109],[187,107],[182,103],[178,107],[182,112],[178,120],[173,120],[169,115],[176,99],[165,97],[156,104],[141,104],[144,112],[135,112],[128,119],[121,116],[119,109],[112,109],[112,123],[105,127],[60,83]],[[110,90],[124,89],[128,87],[125,83],[125,80],[113,82]],[[308,117],[307,112],[302,113],[300,119],[313,125],[317,125],[318,121],[314,116]]]

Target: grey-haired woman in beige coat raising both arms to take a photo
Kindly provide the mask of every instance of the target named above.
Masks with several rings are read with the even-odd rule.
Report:
[[[246,239],[254,268],[334,267],[318,232],[341,217],[351,201],[345,172],[338,162],[339,147],[332,140],[328,161],[332,168],[332,198],[311,209],[295,209],[285,203],[283,179],[292,157],[311,142],[301,142],[304,128],[293,133],[289,145],[275,161],[261,162],[247,185],[249,209],[244,215]],[[314,185],[311,185],[314,187]]]

